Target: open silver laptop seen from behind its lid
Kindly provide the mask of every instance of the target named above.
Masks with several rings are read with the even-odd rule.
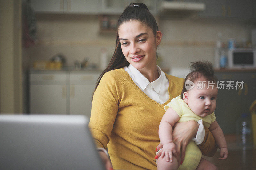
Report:
[[[0,169],[104,166],[83,115],[0,115]]]

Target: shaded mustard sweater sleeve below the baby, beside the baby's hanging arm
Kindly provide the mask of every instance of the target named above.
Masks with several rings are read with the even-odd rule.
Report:
[[[208,128],[204,127],[204,130],[205,130],[204,140],[202,144],[198,145],[198,147],[200,148],[204,156],[213,156],[217,151],[216,141]]]

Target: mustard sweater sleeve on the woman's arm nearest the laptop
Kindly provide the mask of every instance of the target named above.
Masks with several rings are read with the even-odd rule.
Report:
[[[118,111],[118,85],[112,74],[105,73],[94,92],[89,129],[96,147],[105,148],[109,142]]]

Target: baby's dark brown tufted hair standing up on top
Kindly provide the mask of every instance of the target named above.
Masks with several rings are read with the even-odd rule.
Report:
[[[181,92],[181,99],[183,99],[183,93],[187,92],[187,89],[185,88],[186,80],[190,80],[193,83],[195,83],[198,78],[205,78],[207,81],[213,81],[213,83],[217,83],[218,78],[214,75],[214,69],[212,66],[212,63],[209,61],[197,61],[192,63],[190,66],[190,72],[186,76],[183,84],[183,89]]]

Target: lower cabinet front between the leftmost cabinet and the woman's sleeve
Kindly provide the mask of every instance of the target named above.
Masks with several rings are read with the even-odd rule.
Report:
[[[100,73],[70,73],[70,114],[90,117],[92,93]]]

